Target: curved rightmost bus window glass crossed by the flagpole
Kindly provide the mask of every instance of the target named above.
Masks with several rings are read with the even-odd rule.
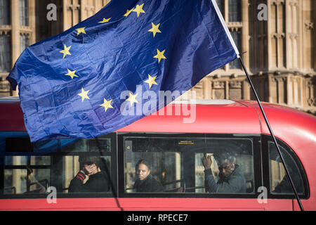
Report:
[[[282,157],[284,158],[285,165],[294,183],[296,191],[300,195],[307,193],[306,179],[303,176],[303,167],[299,163],[296,155],[293,153],[291,148],[278,141],[279,149],[281,150]],[[282,164],[282,160],[279,157],[277,148],[273,141],[268,141],[269,149],[269,169],[270,169],[270,191],[273,195],[294,195],[293,188],[289,182],[287,174]],[[296,160],[295,160],[296,158]],[[301,168],[301,169],[300,169]],[[304,182],[303,182],[304,180]]]

